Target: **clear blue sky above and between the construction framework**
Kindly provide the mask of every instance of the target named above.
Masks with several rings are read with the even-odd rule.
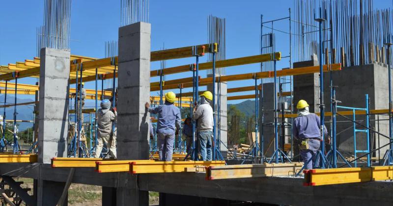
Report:
[[[1,65],[35,56],[36,27],[43,24],[43,4],[43,0],[1,2]],[[374,8],[391,6],[391,1],[374,0]],[[260,15],[263,14],[265,21],[287,17],[289,7],[293,7],[293,0],[150,0],[151,50],[159,50],[164,43],[166,48],[206,43],[207,16],[213,14],[226,18],[226,58],[259,54]],[[118,36],[120,0],[73,0],[71,12],[71,53],[104,57],[104,42],[116,40]],[[275,28],[288,31],[288,21],[275,24]],[[276,38],[276,50],[283,56],[288,55],[288,35],[276,33]],[[205,61],[207,57],[202,57],[201,62]],[[167,67],[194,62],[194,58],[170,60]],[[151,64],[152,70],[159,67],[159,62]],[[287,59],[278,63],[278,68],[284,67],[288,67]],[[252,64],[227,68],[226,74],[258,71],[259,64]],[[190,76],[191,73],[171,75],[167,80]],[[201,76],[205,77],[205,72]],[[152,78],[152,81],[157,80]],[[19,82],[32,84],[35,79],[25,78]],[[250,85],[253,80],[230,82],[228,88]],[[86,86],[93,88],[92,83]]]

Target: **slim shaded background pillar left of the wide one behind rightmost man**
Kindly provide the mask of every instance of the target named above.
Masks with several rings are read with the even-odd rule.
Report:
[[[263,98],[262,98],[263,93]],[[274,83],[262,84],[262,92],[259,93],[259,145],[266,157],[274,153]],[[263,115],[263,124],[262,124]],[[263,136],[262,136],[263,135]],[[262,143],[263,141],[263,143]]]

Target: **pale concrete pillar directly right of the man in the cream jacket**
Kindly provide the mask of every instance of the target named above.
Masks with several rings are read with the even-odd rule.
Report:
[[[207,77],[212,77],[213,75],[207,75]],[[218,75],[217,75],[218,76]],[[220,111],[218,111],[218,87],[220,87]],[[213,84],[208,84],[207,85],[207,90],[210,92],[213,92]],[[217,132],[220,132],[221,135],[221,144],[220,144],[220,152],[223,155],[224,158],[226,158],[226,154],[228,150],[226,149],[227,147],[227,134],[228,134],[228,126],[227,126],[227,83],[226,82],[221,82],[216,84],[216,111],[217,113],[220,112],[221,119],[220,122],[218,122],[217,119]],[[213,103],[211,103],[211,106],[213,106]]]

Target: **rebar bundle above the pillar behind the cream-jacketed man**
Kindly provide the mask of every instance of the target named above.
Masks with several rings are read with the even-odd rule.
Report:
[[[209,44],[218,43],[218,53],[216,61],[225,59],[225,18],[210,15],[207,17],[207,42]],[[208,61],[212,61],[213,54],[209,52]],[[206,74],[212,74],[213,71],[207,70]],[[225,75],[225,67],[217,68],[216,74]]]

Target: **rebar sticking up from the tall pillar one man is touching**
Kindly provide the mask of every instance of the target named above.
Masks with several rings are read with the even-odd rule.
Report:
[[[121,0],[121,26],[131,25],[137,22],[149,22],[149,0]]]

